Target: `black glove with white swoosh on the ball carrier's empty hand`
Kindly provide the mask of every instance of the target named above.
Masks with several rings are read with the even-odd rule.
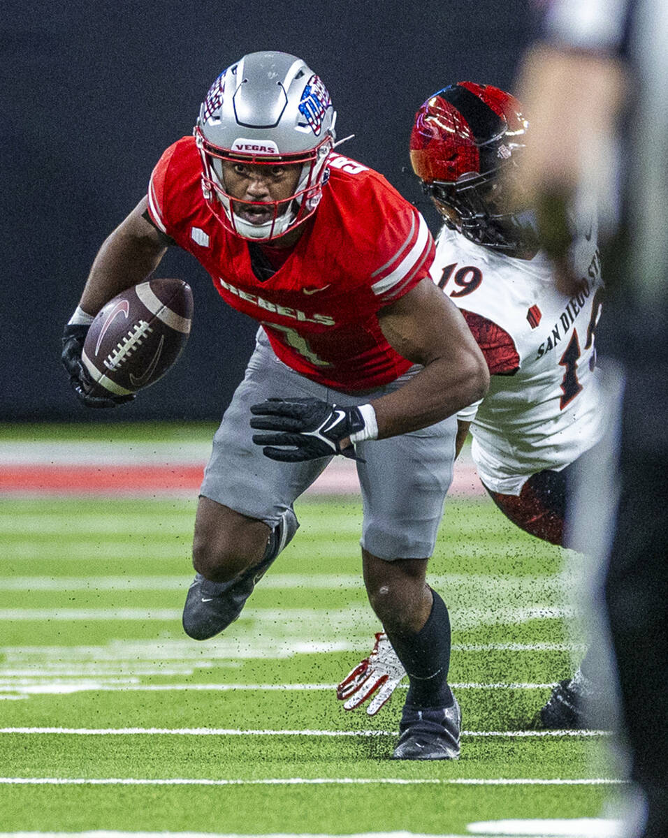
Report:
[[[353,460],[355,446],[339,442],[361,431],[365,421],[356,407],[328,405],[319,399],[267,399],[252,405],[251,427],[272,433],[256,433],[253,442],[264,446],[262,453],[283,463],[301,463],[318,457],[343,454]],[[275,447],[275,446],[289,447]]]

